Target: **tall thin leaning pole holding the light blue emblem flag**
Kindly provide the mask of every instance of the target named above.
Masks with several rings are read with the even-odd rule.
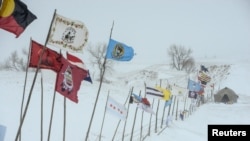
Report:
[[[114,21],[113,21],[113,24],[112,24],[112,27],[111,27],[111,32],[110,32],[109,39],[111,39],[113,27],[114,27]],[[96,109],[97,101],[98,101],[98,98],[99,98],[99,95],[100,95],[100,91],[101,91],[101,87],[102,87],[102,81],[103,81],[103,77],[104,77],[105,70],[106,70],[105,69],[106,60],[107,60],[107,57],[105,55],[104,62],[103,62],[103,65],[102,65],[103,66],[103,70],[101,71],[102,75],[101,75],[101,78],[100,78],[99,88],[98,88],[97,96],[96,96],[96,99],[95,99],[94,109],[92,111],[92,115],[91,115],[91,118],[90,118],[89,127],[88,127],[88,130],[87,130],[87,133],[86,133],[85,141],[87,141],[88,137],[89,137],[89,131],[90,131],[92,120],[93,120],[93,117],[94,117],[94,114],[95,114],[95,109]]]

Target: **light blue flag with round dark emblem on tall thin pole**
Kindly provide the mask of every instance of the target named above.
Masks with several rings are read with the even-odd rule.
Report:
[[[134,57],[134,49],[113,39],[109,40],[107,48],[107,59],[117,61],[130,61]]]

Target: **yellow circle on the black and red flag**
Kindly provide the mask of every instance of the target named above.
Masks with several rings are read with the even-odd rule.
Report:
[[[0,9],[0,17],[10,16],[15,9],[14,0],[2,0],[2,5]]]

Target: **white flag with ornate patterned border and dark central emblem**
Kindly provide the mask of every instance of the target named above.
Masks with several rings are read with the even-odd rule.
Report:
[[[82,52],[88,41],[88,30],[83,22],[55,14],[48,44],[70,52]]]

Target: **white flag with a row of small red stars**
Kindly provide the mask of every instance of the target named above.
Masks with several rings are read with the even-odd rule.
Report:
[[[119,104],[110,96],[108,97],[107,111],[122,120],[126,120],[127,109],[125,108],[125,106],[123,106],[122,104]]]

